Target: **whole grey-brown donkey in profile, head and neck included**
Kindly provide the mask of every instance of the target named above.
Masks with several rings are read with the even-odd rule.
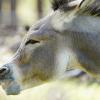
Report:
[[[100,78],[100,1],[53,0],[53,12],[25,35],[12,60],[0,68],[8,95],[61,79],[70,69]]]

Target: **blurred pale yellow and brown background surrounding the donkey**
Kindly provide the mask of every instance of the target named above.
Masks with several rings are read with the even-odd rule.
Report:
[[[52,11],[49,0],[0,0],[0,66],[18,49],[22,38],[37,20]],[[100,100],[100,82],[81,71],[7,96],[0,87],[0,100]]]

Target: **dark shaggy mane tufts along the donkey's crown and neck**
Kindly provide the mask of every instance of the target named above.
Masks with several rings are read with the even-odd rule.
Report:
[[[72,1],[77,1],[77,0],[53,0],[52,8],[54,11],[58,9],[61,9],[63,11],[69,11],[70,9],[75,8],[75,6],[74,7],[68,6],[68,4]],[[84,5],[85,2],[87,3]],[[82,5],[84,6],[81,7]],[[100,0],[83,0],[80,5],[78,13],[81,15],[100,17]]]

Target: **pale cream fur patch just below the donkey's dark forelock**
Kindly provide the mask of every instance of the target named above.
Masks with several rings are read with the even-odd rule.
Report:
[[[54,12],[51,24],[55,30],[62,32],[64,30],[64,24],[67,23],[67,25],[69,25],[69,23],[71,23],[75,17],[76,15],[74,11],[73,13],[64,13],[60,10],[57,10]]]

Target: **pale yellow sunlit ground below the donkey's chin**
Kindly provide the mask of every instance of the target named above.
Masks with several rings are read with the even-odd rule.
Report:
[[[0,89],[0,100],[100,100],[100,87],[76,82],[52,82],[25,90],[17,96],[7,96]]]

